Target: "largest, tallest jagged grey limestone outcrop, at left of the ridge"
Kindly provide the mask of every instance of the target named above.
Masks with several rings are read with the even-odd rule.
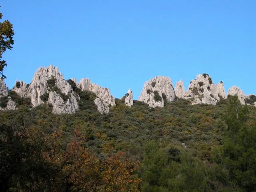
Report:
[[[51,85],[48,85],[48,82],[51,82]],[[52,65],[46,68],[40,67],[29,86],[21,81],[20,87],[15,84],[13,90],[21,97],[31,98],[33,106],[44,102],[51,103],[55,114],[74,113],[78,110],[78,102],[72,87],[64,80],[59,68]],[[46,99],[43,101],[40,96],[45,96]],[[64,101],[62,97],[66,97],[67,100]]]

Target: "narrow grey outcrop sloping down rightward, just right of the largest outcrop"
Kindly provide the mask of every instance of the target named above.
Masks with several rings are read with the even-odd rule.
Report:
[[[97,105],[100,113],[108,113],[109,108],[116,105],[115,98],[110,94],[110,90],[91,83],[89,78],[82,78],[80,87],[82,91],[88,90],[96,94],[97,98],[94,100],[94,103]]]

